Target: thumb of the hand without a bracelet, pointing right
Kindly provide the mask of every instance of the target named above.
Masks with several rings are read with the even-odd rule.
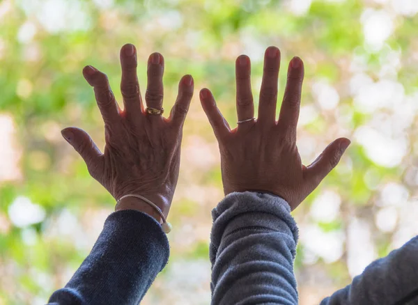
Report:
[[[334,169],[350,143],[351,141],[346,138],[336,139],[304,169],[304,178],[311,189],[318,187],[320,182]]]

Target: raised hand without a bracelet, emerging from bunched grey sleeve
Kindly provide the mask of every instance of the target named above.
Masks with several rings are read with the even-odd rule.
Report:
[[[277,121],[279,65],[279,49],[269,47],[264,58],[258,118],[240,123],[233,130],[217,108],[212,93],[205,88],[200,97],[219,143],[225,195],[233,191],[267,191],[284,198],[294,210],[338,164],[350,140],[336,139],[311,165],[302,165],[296,147],[296,127],[304,67],[300,58],[292,59]],[[253,118],[247,56],[238,57],[235,73],[238,121]]]

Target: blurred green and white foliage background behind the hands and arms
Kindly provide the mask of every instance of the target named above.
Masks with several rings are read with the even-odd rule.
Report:
[[[346,286],[418,234],[417,12],[415,0],[0,1],[0,304],[45,304],[114,209],[60,131],[82,127],[103,148],[82,68],[106,72],[120,101],[126,42],[138,50],[141,88],[149,54],[165,56],[166,109],[181,76],[193,75],[196,88],[169,216],[170,262],[142,304],[210,302],[210,211],[223,194],[217,142],[198,93],[211,88],[234,126],[235,58],[250,56],[258,96],[270,45],[281,49],[279,97],[288,61],[305,63],[302,162],[339,136],[352,140],[294,212],[300,304]]]

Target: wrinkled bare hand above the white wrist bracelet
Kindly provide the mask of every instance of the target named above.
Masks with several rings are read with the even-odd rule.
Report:
[[[193,95],[193,79],[190,75],[181,79],[176,103],[169,118],[164,118],[144,110],[137,78],[137,52],[133,45],[127,44],[121,49],[121,66],[123,110],[118,107],[107,76],[91,66],[83,70],[86,81],[94,88],[104,120],[104,153],[83,130],[69,127],[62,134],[82,156],[91,176],[116,200],[126,194],[139,194],[153,201],[167,217],[178,180],[180,143]],[[161,54],[152,54],[148,59],[147,107],[162,109],[163,72],[164,58]],[[127,205],[136,205],[134,201],[139,200],[131,198]],[[155,212],[145,203],[141,209]]]

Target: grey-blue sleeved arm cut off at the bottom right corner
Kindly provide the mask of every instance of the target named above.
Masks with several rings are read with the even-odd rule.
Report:
[[[398,305],[418,301],[418,237],[374,261],[321,305]]]

